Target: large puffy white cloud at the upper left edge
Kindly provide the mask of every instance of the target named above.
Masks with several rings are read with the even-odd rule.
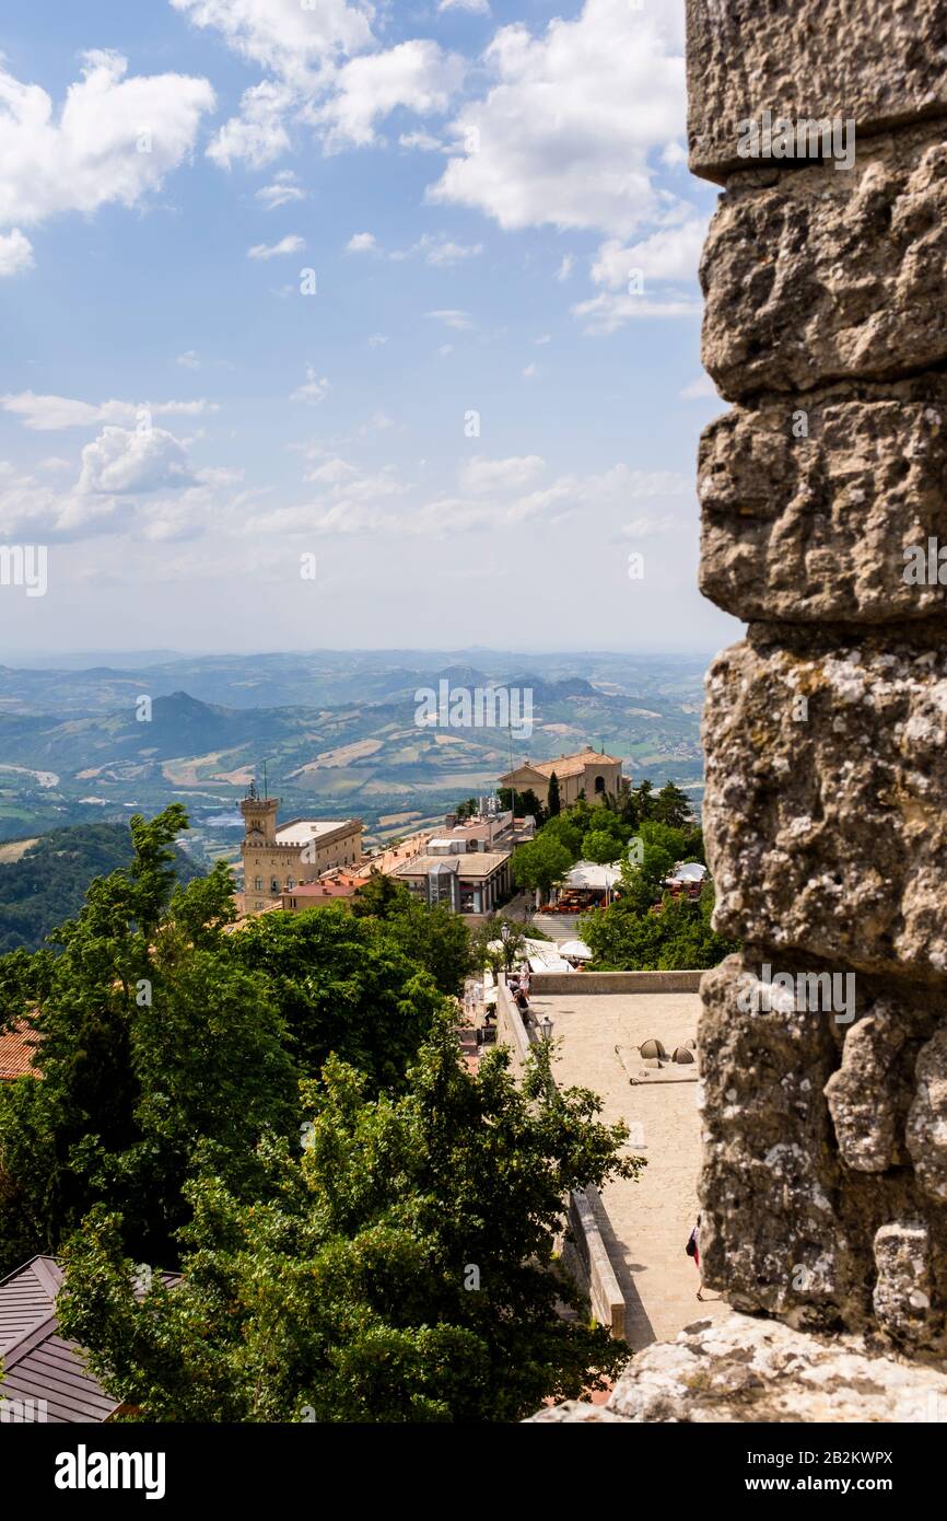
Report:
[[[117,53],[85,53],[56,114],[46,90],[0,68],[0,227],[135,205],[190,154],[214,105],[207,79],[126,70]]]

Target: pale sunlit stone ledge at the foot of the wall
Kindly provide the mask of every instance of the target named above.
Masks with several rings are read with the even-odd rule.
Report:
[[[947,1373],[734,1314],[638,1352],[607,1405],[573,1399],[531,1421],[947,1422]]]

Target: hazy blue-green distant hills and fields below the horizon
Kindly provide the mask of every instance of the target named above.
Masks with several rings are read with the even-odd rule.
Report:
[[[0,666],[0,838],[181,799],[205,855],[233,850],[228,826],[263,762],[283,817],[359,814],[382,832],[488,791],[524,757],[587,744],[658,785],[699,788],[702,659],[479,654],[477,663],[461,651],[334,651],[132,671]],[[527,691],[532,733],[421,722],[416,694],[441,681]]]

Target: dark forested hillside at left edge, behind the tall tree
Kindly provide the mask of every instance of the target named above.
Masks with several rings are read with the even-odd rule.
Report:
[[[18,861],[0,865],[0,954],[35,951],[46,935],[78,914],[96,876],[132,859],[128,824],[76,824],[43,835]],[[202,873],[178,847],[178,878]]]

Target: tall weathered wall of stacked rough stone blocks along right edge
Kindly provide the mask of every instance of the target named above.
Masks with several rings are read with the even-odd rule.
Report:
[[[947,0],[689,0],[687,29],[690,164],[724,187],[704,364],[734,403],[701,443],[701,586],[748,622],[704,726],[716,928],[743,945],[702,983],[704,1276],[935,1360]]]

